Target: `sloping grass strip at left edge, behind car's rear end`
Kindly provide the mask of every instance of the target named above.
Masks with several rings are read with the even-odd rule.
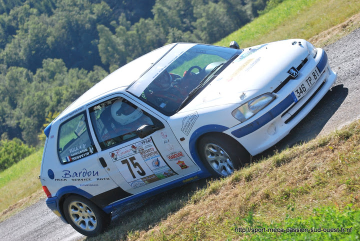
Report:
[[[40,180],[37,179],[41,156],[42,149],[0,172],[0,213],[41,189]],[[0,220],[3,219],[4,216],[1,216]]]

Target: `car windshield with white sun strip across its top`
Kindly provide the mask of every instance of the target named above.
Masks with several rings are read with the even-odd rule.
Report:
[[[170,116],[212,69],[241,51],[212,45],[177,44],[127,91]]]

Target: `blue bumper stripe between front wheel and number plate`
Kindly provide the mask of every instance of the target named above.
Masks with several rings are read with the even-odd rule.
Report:
[[[289,94],[285,99],[283,99],[280,103],[278,103],[275,107],[270,109],[268,112],[260,116],[259,118],[255,119],[251,123],[248,123],[241,128],[235,129],[231,131],[231,134],[240,138],[245,136],[249,133],[254,132],[255,130],[261,128],[268,122],[270,122],[273,118],[277,115],[281,114],[285,109],[287,109],[292,103],[294,99],[291,94]]]

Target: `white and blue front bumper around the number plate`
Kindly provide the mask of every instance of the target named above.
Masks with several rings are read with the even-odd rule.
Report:
[[[237,139],[251,155],[264,151],[285,137],[320,101],[336,80],[337,74],[329,67],[325,51],[321,49],[320,54],[312,64],[309,63],[304,68],[305,74],[302,77],[307,76],[315,65],[321,68],[321,76],[299,101],[294,102],[290,94],[294,85],[289,84],[279,91],[277,102],[259,112],[257,119],[240,123],[224,132]],[[282,100],[279,99],[280,96]]]

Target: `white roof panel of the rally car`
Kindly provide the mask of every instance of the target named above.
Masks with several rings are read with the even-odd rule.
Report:
[[[148,68],[156,63],[159,58],[166,54],[176,44],[177,43],[172,43],[157,48],[113,71],[73,101],[57,118],[62,117],[66,113],[87,104],[94,98],[110,92],[111,90],[126,89],[127,86],[136,81]]]

